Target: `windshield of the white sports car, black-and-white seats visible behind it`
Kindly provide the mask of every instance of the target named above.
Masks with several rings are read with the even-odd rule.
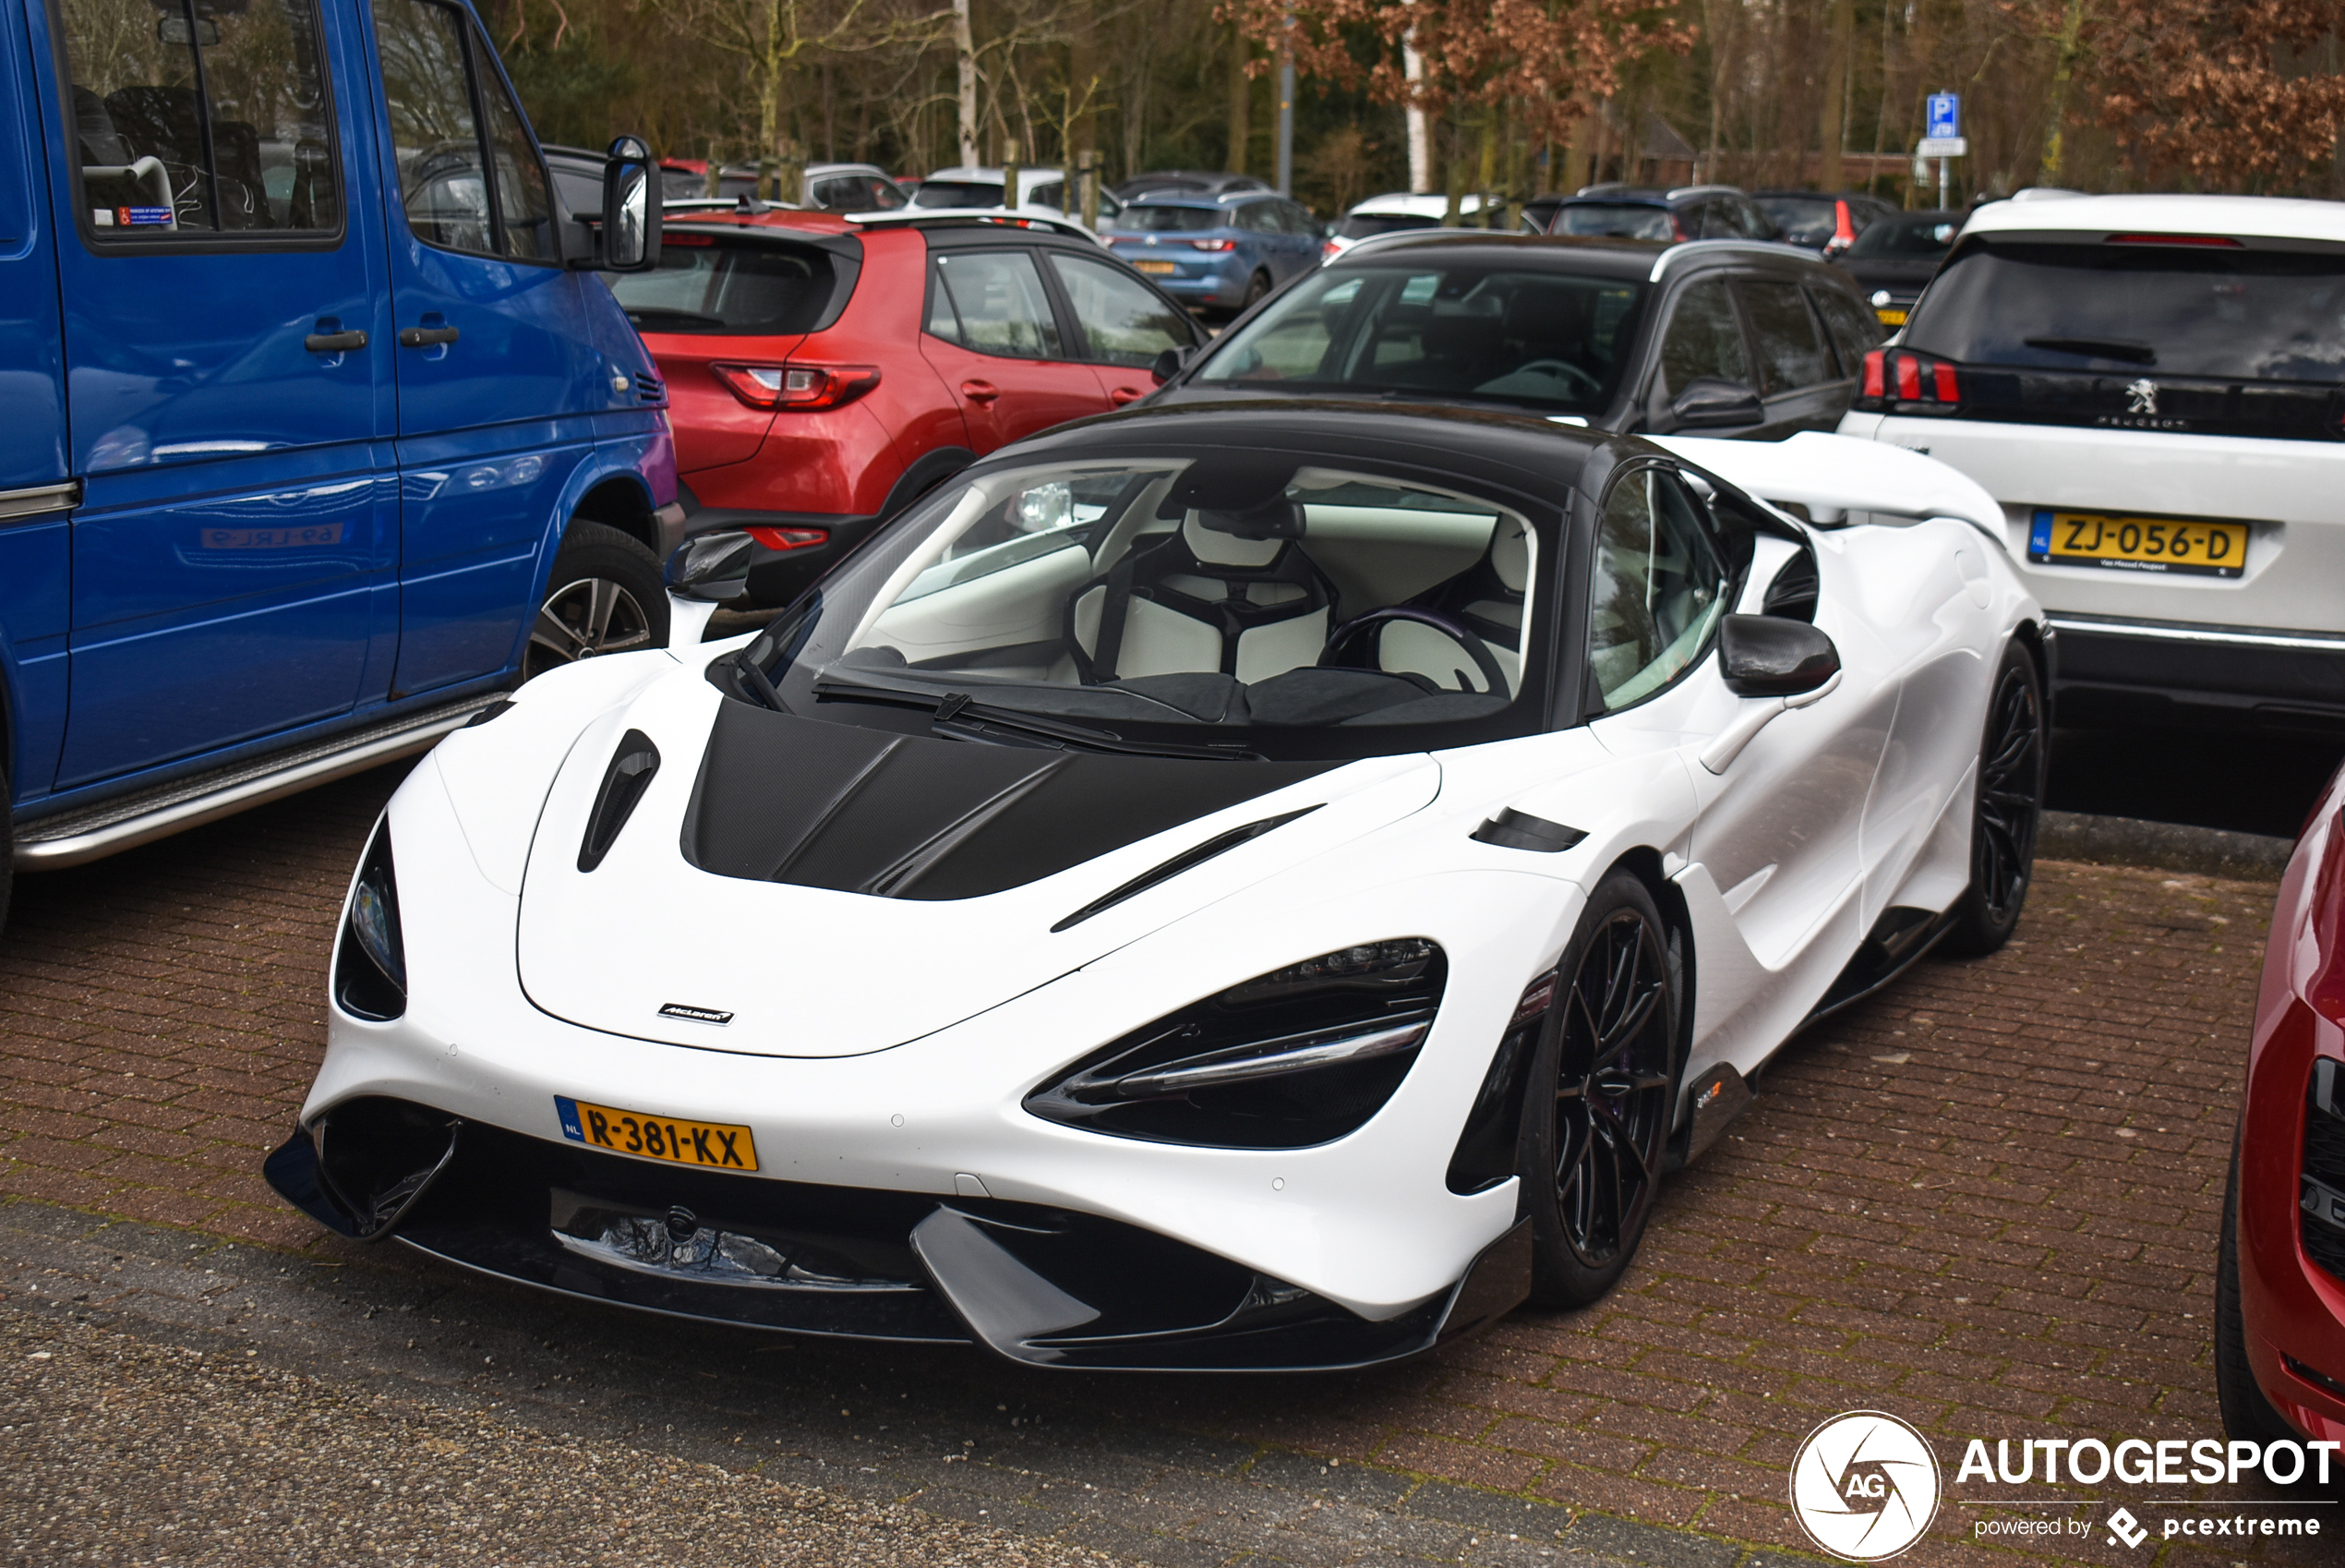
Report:
[[[1022,466],[924,499],[743,656],[842,722],[1372,757],[1541,727],[1538,560],[1510,506],[1294,455]]]

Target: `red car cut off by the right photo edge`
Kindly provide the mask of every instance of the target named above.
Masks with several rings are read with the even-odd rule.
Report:
[[[2237,1439],[2345,1441],[2345,771],[2279,884],[2232,1146],[2214,1371]]]

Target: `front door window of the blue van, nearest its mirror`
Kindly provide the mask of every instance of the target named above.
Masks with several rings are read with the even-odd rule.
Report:
[[[380,0],[375,49],[408,230],[446,251],[556,260],[546,169],[478,28],[453,5]]]

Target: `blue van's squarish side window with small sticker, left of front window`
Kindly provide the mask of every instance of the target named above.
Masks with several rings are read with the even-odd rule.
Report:
[[[84,234],[340,232],[314,0],[66,0],[59,19]]]

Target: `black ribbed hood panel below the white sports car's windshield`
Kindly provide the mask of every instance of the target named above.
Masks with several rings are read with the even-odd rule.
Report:
[[[746,881],[983,898],[1332,766],[978,745],[725,703],[682,851]]]

